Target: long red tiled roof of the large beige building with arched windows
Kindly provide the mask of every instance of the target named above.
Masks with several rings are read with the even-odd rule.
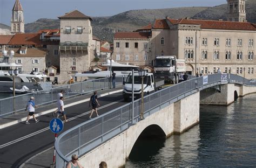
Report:
[[[201,29],[256,31],[256,26],[250,22],[228,22],[228,21],[220,21],[220,20],[179,19],[179,20],[177,20],[176,23],[174,23],[174,19],[169,19],[169,20],[172,24],[201,25]]]

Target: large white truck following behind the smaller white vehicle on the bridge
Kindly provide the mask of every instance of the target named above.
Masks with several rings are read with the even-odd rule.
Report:
[[[186,72],[184,59],[176,59],[174,55],[157,56],[154,60],[154,74],[158,79],[178,83],[180,74]]]

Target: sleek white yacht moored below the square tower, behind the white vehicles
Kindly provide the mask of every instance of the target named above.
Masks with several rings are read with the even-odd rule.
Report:
[[[106,64],[101,65],[102,67],[107,67],[106,71],[97,71],[97,72],[84,72],[84,73],[76,73],[75,77],[87,77],[87,80],[99,79],[99,78],[108,78],[111,76],[111,72],[114,71],[117,77],[127,76],[132,69],[134,71],[138,71],[139,66],[129,65],[129,64],[120,64],[118,62],[114,62],[113,60],[107,60]]]

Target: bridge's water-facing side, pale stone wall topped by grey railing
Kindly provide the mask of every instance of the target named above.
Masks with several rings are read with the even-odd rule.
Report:
[[[144,97],[144,111],[138,99],[63,132],[55,142],[56,167],[65,167],[75,153],[84,167],[102,161],[123,166],[140,136],[182,134],[198,124],[200,103],[227,106],[255,92],[255,84],[234,74],[201,76],[161,89]]]

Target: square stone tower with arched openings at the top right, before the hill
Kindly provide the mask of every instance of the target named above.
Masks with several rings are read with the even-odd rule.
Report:
[[[227,0],[227,20],[233,22],[246,22],[246,0]]]

